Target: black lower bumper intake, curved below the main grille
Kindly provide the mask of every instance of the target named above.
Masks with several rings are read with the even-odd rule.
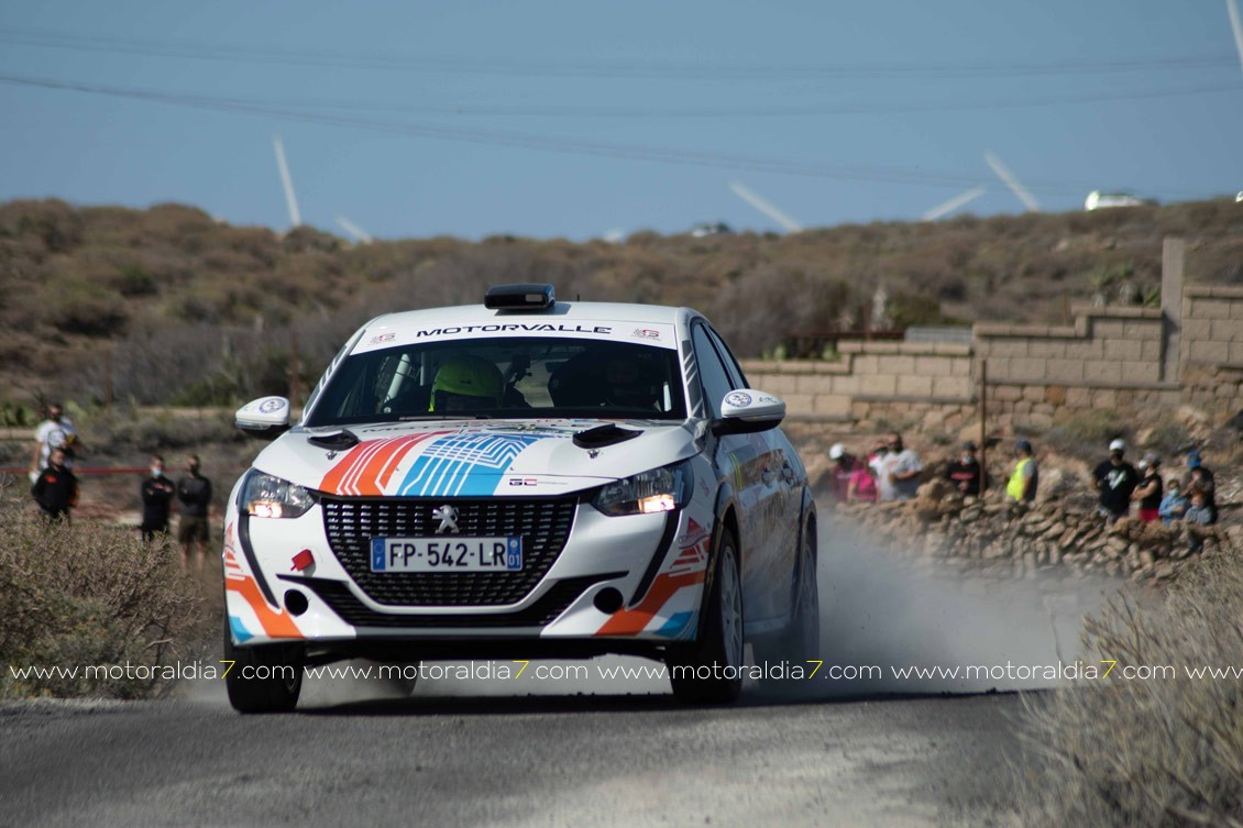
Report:
[[[553,587],[525,609],[500,614],[470,615],[395,615],[378,613],[354,597],[341,581],[327,578],[302,578],[281,576],[282,581],[302,584],[319,596],[341,618],[354,627],[378,627],[384,629],[426,629],[426,628],[520,628],[546,627],[556,620],[592,584],[623,576],[622,572],[607,572],[598,576],[567,578]]]

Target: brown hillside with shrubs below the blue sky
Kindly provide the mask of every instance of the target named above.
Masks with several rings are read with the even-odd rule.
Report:
[[[306,388],[370,316],[474,303],[515,281],[552,282],[563,298],[690,305],[741,356],[799,331],[1058,323],[1076,301],[1156,302],[1168,235],[1188,242],[1191,282],[1243,283],[1243,205],[1228,199],[784,236],[368,245],[175,204],[12,201],[0,205],[0,403],[10,420],[45,395],[231,404],[288,388],[291,353]],[[879,287],[888,320],[871,318]]]

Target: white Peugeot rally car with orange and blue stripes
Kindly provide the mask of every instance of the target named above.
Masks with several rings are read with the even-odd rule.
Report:
[[[367,323],[229,497],[229,699],[290,710],[302,668],[367,658],[664,660],[675,695],[728,702],[743,642],[819,642],[815,507],[777,428],[689,308],[484,305]],[[757,656],[758,661],[758,656]]]

